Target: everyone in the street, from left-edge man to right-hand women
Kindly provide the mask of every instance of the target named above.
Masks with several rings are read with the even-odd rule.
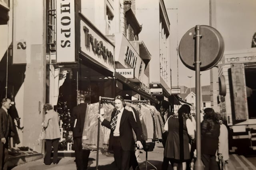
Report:
[[[82,133],[87,104],[84,96],[78,96],[78,105],[71,113],[70,125],[73,132],[76,169],[86,170],[90,150],[82,149]],[[8,114],[11,100],[4,98],[0,108],[0,163],[5,170],[8,158],[8,138],[13,135],[13,124]],[[114,100],[115,110],[110,121],[98,114],[101,125],[109,128],[109,149],[114,152],[114,162],[119,170],[128,170],[132,167],[139,169],[135,151],[143,149],[142,127],[138,117],[134,117],[131,111],[124,108],[124,98],[116,96]],[[53,163],[58,164],[58,143],[60,140],[60,117],[53,110],[52,105],[44,105],[46,153],[44,164],[49,165],[53,148]],[[190,106],[182,105],[176,113],[168,109],[166,101],[161,102],[160,112],[164,123],[162,132],[162,144],[164,146],[162,170],[167,170],[169,162],[174,170],[191,170],[196,159],[196,121],[190,113]],[[219,170],[220,164],[228,161],[228,129],[223,124],[222,117],[212,108],[203,110],[201,120],[201,153],[204,170]],[[136,134],[134,139],[133,132]],[[134,148],[136,145],[137,149]]]

